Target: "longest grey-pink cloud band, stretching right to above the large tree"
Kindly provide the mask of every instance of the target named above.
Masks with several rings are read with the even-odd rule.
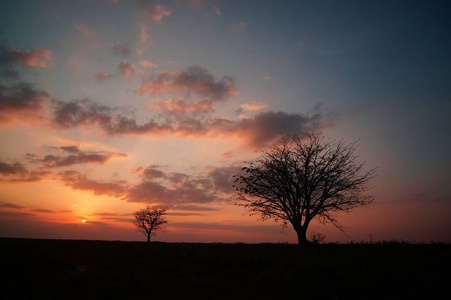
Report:
[[[99,105],[88,99],[71,102],[53,101],[55,112],[53,124],[61,128],[97,125],[107,134],[174,134],[206,138],[236,138],[243,145],[257,149],[271,145],[280,133],[294,134],[307,128],[325,126],[321,112],[302,115],[285,112],[261,112],[238,120],[206,118],[209,100],[185,103],[182,99],[157,101],[152,109],[163,113],[163,120],[150,119],[138,124],[134,118],[120,114],[119,108]],[[200,114],[202,112],[202,114]]]

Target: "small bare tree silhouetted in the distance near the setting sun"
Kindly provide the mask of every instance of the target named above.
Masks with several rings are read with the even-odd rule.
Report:
[[[150,242],[150,237],[155,235],[156,231],[164,229],[164,225],[168,222],[164,219],[167,208],[164,207],[150,207],[146,206],[134,213],[133,224],[147,237],[147,242]]]

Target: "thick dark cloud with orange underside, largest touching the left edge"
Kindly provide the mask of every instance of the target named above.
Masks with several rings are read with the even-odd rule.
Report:
[[[47,92],[36,90],[29,83],[0,84],[0,123],[38,117],[48,98]]]

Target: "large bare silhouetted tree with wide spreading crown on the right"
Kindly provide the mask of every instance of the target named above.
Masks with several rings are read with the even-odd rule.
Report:
[[[280,144],[234,175],[235,201],[262,219],[291,223],[299,244],[307,243],[307,228],[315,217],[343,231],[334,212],[373,202],[362,194],[375,169],[363,172],[355,150],[356,143],[326,141],[321,133],[283,135]]]

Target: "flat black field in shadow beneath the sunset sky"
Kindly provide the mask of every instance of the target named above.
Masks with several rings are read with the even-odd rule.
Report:
[[[450,299],[450,250],[0,238],[0,299]]]

